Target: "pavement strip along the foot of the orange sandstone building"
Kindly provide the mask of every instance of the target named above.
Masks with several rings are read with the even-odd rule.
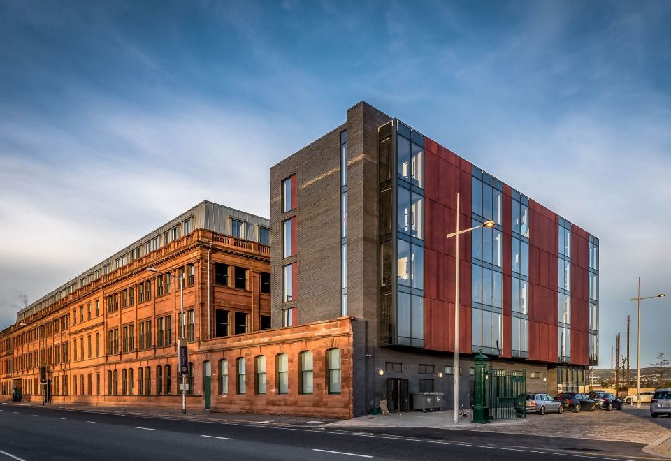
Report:
[[[282,416],[282,415],[261,415],[261,414],[243,414],[243,413],[219,413],[203,409],[189,409],[183,414],[181,409],[162,408],[162,407],[102,407],[85,404],[45,404],[38,402],[2,402],[4,405],[16,405],[17,407],[40,407],[44,409],[85,411],[89,413],[102,414],[121,414],[133,416],[145,416],[150,418],[170,418],[192,421],[205,421],[208,423],[247,423],[259,424],[266,423],[272,425],[284,426],[312,426],[319,427],[329,423],[334,423],[334,419],[310,418],[307,416]]]

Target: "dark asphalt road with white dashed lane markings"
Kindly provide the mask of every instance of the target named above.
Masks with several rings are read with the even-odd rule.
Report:
[[[468,431],[380,432],[210,423],[0,406],[0,461],[10,460],[623,460],[642,444]]]

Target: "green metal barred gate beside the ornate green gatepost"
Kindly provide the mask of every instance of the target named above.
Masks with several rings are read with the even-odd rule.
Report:
[[[485,381],[490,419],[526,418],[526,370],[489,368]]]

